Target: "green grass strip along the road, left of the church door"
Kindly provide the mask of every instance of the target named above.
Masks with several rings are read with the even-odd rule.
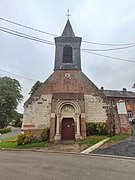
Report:
[[[18,148],[18,149],[25,149],[25,148],[44,148],[48,147],[49,144],[45,142],[35,142],[35,143],[30,143],[26,145],[21,145],[18,146],[16,142],[17,136],[13,136],[11,138],[7,138],[0,142],[0,148]]]

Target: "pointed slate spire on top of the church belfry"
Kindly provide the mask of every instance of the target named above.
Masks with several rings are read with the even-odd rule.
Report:
[[[62,37],[75,37],[74,31],[72,29],[69,19],[67,20],[66,26],[62,33]]]

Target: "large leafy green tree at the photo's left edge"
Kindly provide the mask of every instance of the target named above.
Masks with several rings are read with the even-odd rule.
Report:
[[[22,101],[21,85],[16,79],[0,77],[0,128],[14,118],[18,103]]]

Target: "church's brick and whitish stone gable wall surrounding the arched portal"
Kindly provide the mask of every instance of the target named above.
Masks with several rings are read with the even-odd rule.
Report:
[[[86,122],[106,122],[107,99],[79,70],[55,70],[43,85],[26,101],[23,127],[34,125],[38,128],[51,128],[50,139],[54,141],[54,125],[51,113],[55,113],[59,100],[76,101],[81,112],[86,113]],[[82,135],[86,136],[82,120]],[[26,128],[28,129],[28,128]]]

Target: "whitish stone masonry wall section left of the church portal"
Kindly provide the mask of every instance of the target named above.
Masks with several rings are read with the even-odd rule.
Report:
[[[52,95],[40,98],[25,106],[22,129],[50,128]]]

